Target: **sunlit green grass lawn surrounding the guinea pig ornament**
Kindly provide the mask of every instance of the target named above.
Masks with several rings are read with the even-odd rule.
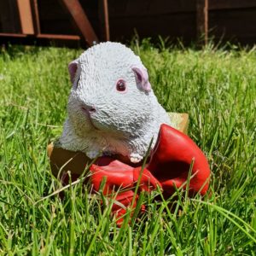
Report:
[[[61,135],[67,63],[82,49],[11,47],[0,55],[1,255],[256,255],[256,50],[131,47],[166,110],[189,113],[212,197],[142,195],[147,211],[119,228],[82,183],[52,195],[61,183],[46,146]]]

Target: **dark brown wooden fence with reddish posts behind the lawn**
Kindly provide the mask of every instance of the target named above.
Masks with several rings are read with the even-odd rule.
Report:
[[[140,38],[256,43],[256,0],[0,0],[0,41],[73,46]]]

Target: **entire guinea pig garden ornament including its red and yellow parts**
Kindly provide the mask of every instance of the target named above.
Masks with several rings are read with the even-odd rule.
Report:
[[[73,87],[67,120],[59,141],[48,147],[56,177],[71,171],[76,179],[97,157],[90,166],[90,183],[97,192],[106,179],[103,195],[118,191],[116,201],[124,207],[114,204],[112,210],[119,222],[125,207],[136,207],[137,183],[137,193],[157,186],[166,196],[186,186],[189,195],[207,193],[210,169],[201,149],[184,134],[188,115],[172,113],[170,118],[154,96],[147,69],[131,49],[119,43],[97,44],[68,70]],[[148,163],[142,167],[152,139]]]

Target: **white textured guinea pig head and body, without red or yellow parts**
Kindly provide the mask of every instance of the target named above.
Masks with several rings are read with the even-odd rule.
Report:
[[[121,154],[143,159],[161,124],[172,125],[148,81],[140,58],[123,44],[102,43],[68,65],[73,83],[61,148],[82,151],[90,159]]]

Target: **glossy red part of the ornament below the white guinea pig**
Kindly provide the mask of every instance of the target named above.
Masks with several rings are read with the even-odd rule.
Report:
[[[188,181],[189,168],[191,177]],[[175,186],[178,189],[184,185],[185,189],[189,184],[189,195],[205,195],[210,177],[207,158],[201,149],[188,136],[169,125],[160,126],[149,163],[143,170],[142,166],[132,167],[111,157],[101,157],[90,167],[90,172],[94,191],[99,191],[105,179],[103,195],[118,193],[115,200],[123,207],[113,204],[112,208],[113,214],[119,218],[118,224],[122,223],[125,208],[131,207],[132,201],[132,208],[137,206],[135,187],[138,182],[138,194],[143,190],[150,192],[160,186],[164,195],[168,196],[175,192]]]

